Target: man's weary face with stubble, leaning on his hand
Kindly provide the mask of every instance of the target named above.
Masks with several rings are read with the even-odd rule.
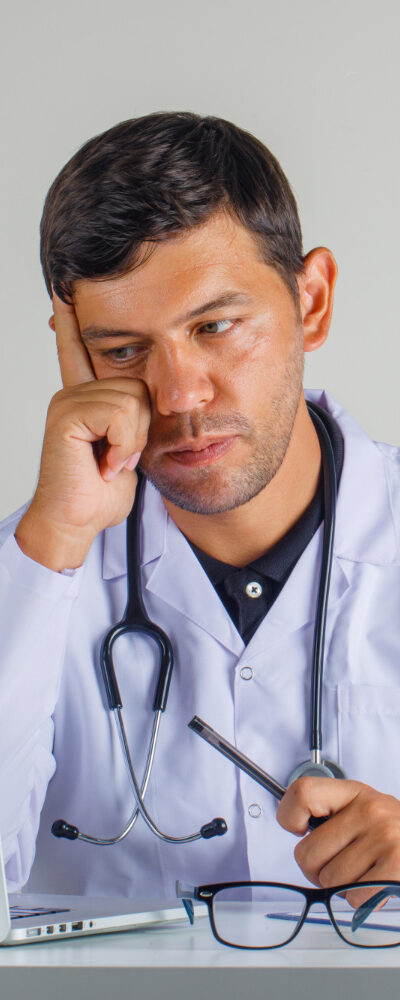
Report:
[[[123,277],[78,281],[74,305],[96,378],[147,388],[140,466],[166,500],[220,513],[268,485],[299,406],[303,331],[247,229],[217,214]]]

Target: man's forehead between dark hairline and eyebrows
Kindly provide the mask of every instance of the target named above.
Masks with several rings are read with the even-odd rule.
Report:
[[[215,214],[201,226],[165,243],[142,247],[144,263],[120,277],[95,281],[81,279],[74,287],[74,305],[81,325],[99,311],[120,317],[128,311],[144,318],[154,311],[171,315],[199,301],[211,299],[226,288],[256,294],[269,272],[255,237],[226,213]],[[283,284],[283,283],[282,283]]]

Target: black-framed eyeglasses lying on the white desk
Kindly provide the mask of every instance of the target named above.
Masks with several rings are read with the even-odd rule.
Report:
[[[350,900],[347,897],[357,890],[360,898],[361,888],[362,902],[352,906],[351,895]],[[192,900],[206,903],[214,937],[232,948],[281,948],[293,941],[305,922],[332,923],[343,941],[358,948],[400,945],[400,882],[349,882],[330,889],[284,882],[220,882],[197,887],[177,882],[176,895],[191,924]]]

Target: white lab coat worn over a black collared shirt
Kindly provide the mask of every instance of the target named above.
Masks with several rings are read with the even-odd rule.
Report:
[[[349,777],[400,798],[400,455],[371,442],[325,393],[307,396],[333,414],[345,440],[324,752]],[[92,847],[56,840],[50,827],[63,817],[109,836],[132,810],[99,670],[102,637],[126,603],[125,523],[100,534],[84,566],[68,576],[22,553],[13,537],[21,516],[0,528],[0,832],[10,888],[27,881],[32,865],[29,888],[92,895],[173,897],[176,878],[304,883],[293,858],[296,838],[278,825],[275,800],[187,723],[199,715],[283,784],[308,756],[322,529],[246,648],[160,495],[146,485],[144,601],[175,650],[147,804],[173,835],[195,832],[214,816],[225,817],[229,830],[176,847],[156,840],[139,819],[121,844]],[[116,662],[141,775],[156,678],[152,643],[119,640]]]

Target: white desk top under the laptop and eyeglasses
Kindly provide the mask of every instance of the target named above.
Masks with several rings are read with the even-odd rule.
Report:
[[[264,952],[218,944],[204,917],[194,927],[0,948],[1,1000],[393,1000],[399,993],[400,947],[354,948],[330,927],[303,927],[297,941]]]

